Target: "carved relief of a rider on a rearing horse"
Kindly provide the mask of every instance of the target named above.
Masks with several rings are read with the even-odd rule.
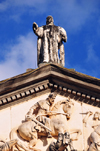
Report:
[[[15,134],[19,135],[23,140],[28,141],[25,149],[37,150],[35,145],[38,138],[45,136],[46,138],[58,137],[57,142],[53,143],[58,150],[70,147],[73,150],[72,141],[78,140],[81,130],[68,128],[67,121],[70,120],[73,113],[74,103],[68,98],[55,103],[56,93],[49,94],[45,100],[40,100],[34,104],[25,116],[25,121],[17,128],[11,131],[11,139],[15,139]],[[70,134],[76,133],[76,138],[70,138]],[[60,138],[63,143],[58,143]],[[22,144],[22,146],[24,146]],[[50,144],[50,151],[52,150]],[[25,150],[24,149],[24,150]]]

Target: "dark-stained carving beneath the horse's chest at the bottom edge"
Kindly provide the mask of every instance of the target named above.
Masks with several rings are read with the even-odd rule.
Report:
[[[59,133],[57,142],[52,142],[49,146],[49,151],[68,151],[67,147],[70,147],[70,150],[75,151],[72,145],[72,140],[70,139],[70,134],[66,132],[65,134]]]

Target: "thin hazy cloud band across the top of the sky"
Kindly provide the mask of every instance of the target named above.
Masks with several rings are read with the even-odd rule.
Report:
[[[51,6],[51,5],[52,6]],[[55,16],[55,20],[64,24],[68,32],[80,30],[82,26],[93,17],[94,13],[99,10],[98,0],[6,0],[0,3],[0,10],[5,11],[8,8],[13,10],[10,18],[15,21],[20,20],[25,12],[31,15],[39,15],[44,12]]]

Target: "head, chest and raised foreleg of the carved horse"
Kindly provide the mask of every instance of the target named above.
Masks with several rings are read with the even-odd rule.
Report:
[[[76,138],[71,138],[71,140],[78,140],[79,136],[82,134],[81,130],[76,128],[70,129],[67,124],[67,121],[71,118],[71,114],[73,113],[73,108],[74,103],[69,98],[67,100],[61,100],[54,105],[52,108],[52,115],[50,116],[50,121],[53,121],[55,129],[55,134],[52,134],[53,130],[51,132],[53,136],[58,136],[59,132],[63,134],[65,132],[69,132],[70,134],[77,133]]]

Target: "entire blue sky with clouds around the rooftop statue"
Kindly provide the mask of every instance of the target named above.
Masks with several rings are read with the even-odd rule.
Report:
[[[100,78],[100,0],[0,0],[0,80],[37,68],[32,24],[48,15],[67,32],[65,67]]]

